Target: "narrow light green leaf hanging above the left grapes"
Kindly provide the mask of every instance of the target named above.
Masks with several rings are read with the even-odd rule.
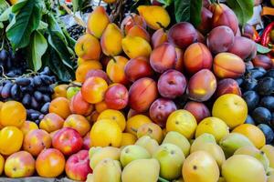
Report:
[[[31,42],[29,44],[30,56],[29,65],[35,71],[38,71],[42,66],[41,57],[47,50],[47,39],[40,32],[35,31],[32,35]]]

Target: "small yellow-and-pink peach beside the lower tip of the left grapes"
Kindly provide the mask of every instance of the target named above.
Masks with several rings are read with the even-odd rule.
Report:
[[[65,120],[58,116],[55,113],[48,113],[44,118],[41,120],[39,124],[40,129],[44,129],[48,133],[51,133],[53,131],[56,131],[60,128],[62,128]]]

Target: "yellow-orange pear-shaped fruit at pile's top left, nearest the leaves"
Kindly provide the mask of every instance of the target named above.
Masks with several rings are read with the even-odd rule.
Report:
[[[107,25],[110,24],[110,17],[103,6],[97,6],[93,9],[88,18],[88,32],[97,38],[103,34]]]

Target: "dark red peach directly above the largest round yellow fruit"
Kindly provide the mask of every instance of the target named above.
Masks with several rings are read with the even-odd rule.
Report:
[[[242,96],[241,89],[237,85],[237,81],[232,78],[225,78],[218,82],[216,88],[216,97],[223,96],[225,94],[235,94]]]

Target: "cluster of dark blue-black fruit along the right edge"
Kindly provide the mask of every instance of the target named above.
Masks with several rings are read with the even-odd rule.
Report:
[[[246,123],[257,125],[270,144],[274,141],[274,69],[248,69],[246,75],[237,79],[237,82],[248,105]]]

